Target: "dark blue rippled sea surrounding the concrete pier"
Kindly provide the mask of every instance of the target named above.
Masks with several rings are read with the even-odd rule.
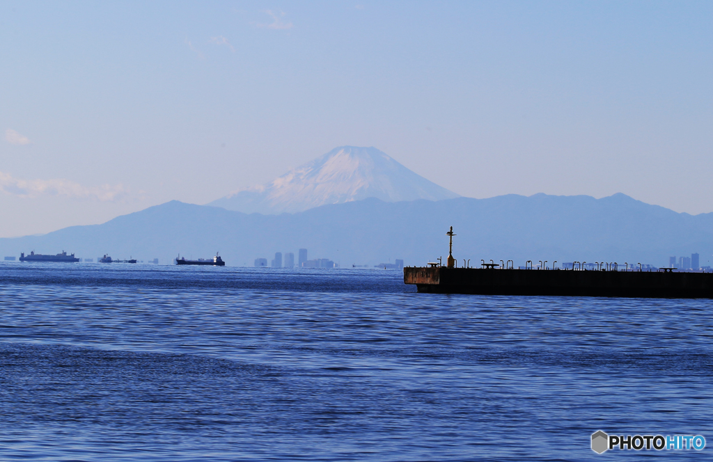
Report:
[[[712,460],[712,308],[0,264],[0,460]],[[597,430],[708,444],[599,456]]]

